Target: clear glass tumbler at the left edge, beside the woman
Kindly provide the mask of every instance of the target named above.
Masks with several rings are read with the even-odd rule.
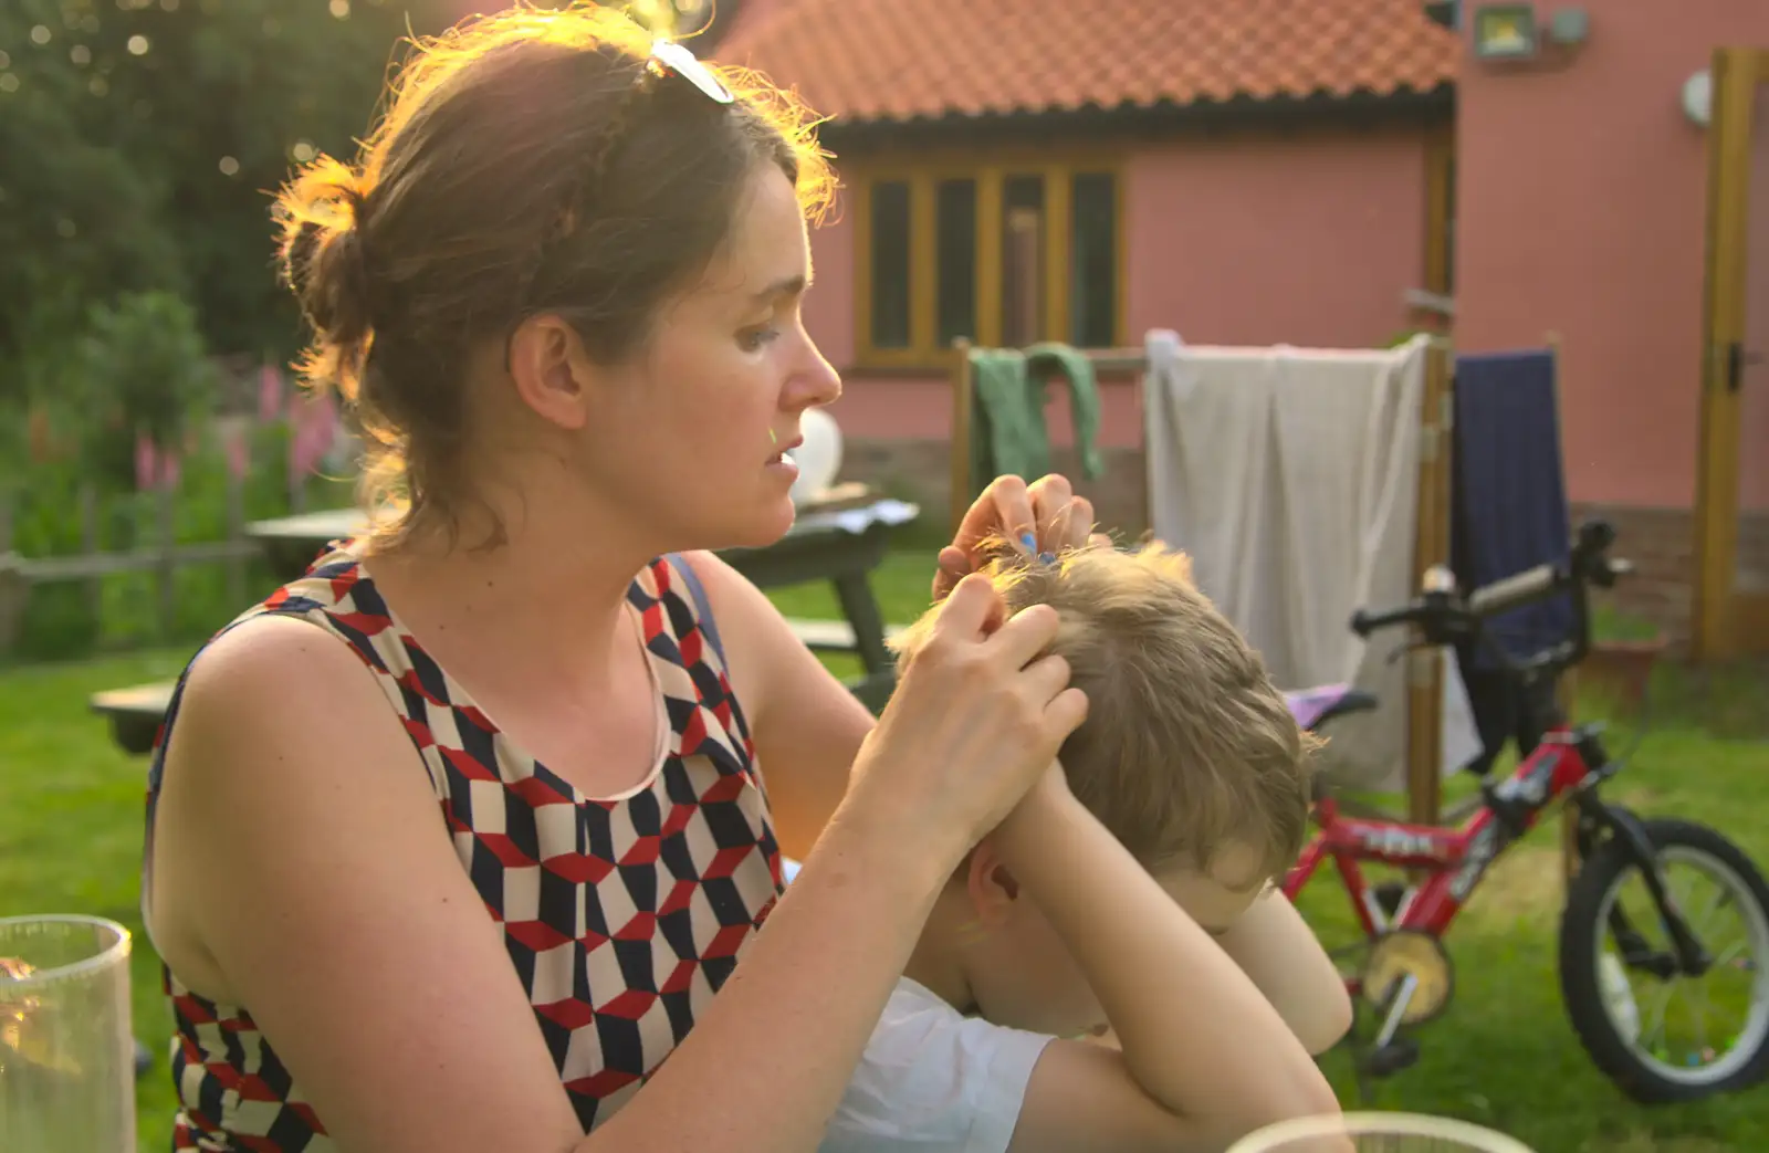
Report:
[[[0,1149],[134,1153],[129,930],[0,918]]]

